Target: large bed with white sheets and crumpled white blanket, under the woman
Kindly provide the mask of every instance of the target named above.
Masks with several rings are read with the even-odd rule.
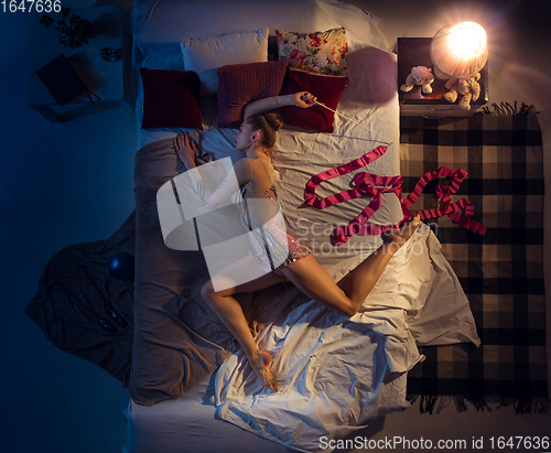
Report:
[[[376,236],[355,236],[339,247],[329,240],[335,226],[348,223],[365,208],[364,197],[323,211],[302,205],[304,186],[313,175],[380,144],[388,145],[387,152],[361,170],[386,176],[400,172],[396,55],[386,51],[377,18],[331,0],[137,1],[132,18],[137,162],[156,143],[170,143],[182,130],[141,129],[143,90],[139,78],[141,67],[185,71],[181,39],[263,29],[271,35],[277,29],[311,33],[344,26],[349,44],[348,85],[337,111],[364,127],[335,116],[333,133],[281,131],[273,152],[278,199],[290,225],[314,246],[316,258],[334,279],[344,277],[375,250],[380,241]],[[229,155],[237,160],[240,155],[233,148],[236,131],[216,125],[216,96],[201,98],[201,145],[216,159]],[[324,183],[317,195],[348,190],[355,173]],[[138,188],[142,183],[138,175]],[[382,198],[382,207],[370,222],[390,225],[401,220],[396,195]],[[139,278],[137,304],[144,300],[139,294]],[[138,316],[140,310],[138,305]],[[143,324],[137,321],[136,336],[141,328]],[[281,379],[281,391],[262,389],[239,350],[228,354],[214,375],[204,377],[185,395],[175,391],[153,406],[151,400],[140,400],[136,391],[139,384],[132,388],[131,379],[133,400],[126,411],[129,440],[125,452],[316,451],[322,435],[343,438],[377,417],[409,407],[407,371],[423,358],[417,344],[478,343],[468,302],[440,252],[437,239],[424,225],[391,260],[369,303],[357,315],[339,316],[310,301],[285,313],[283,320],[259,325],[259,330],[258,342],[274,354],[273,371]],[[134,344],[133,369],[140,370],[144,360]],[[138,378],[139,373],[134,373],[134,381]]]

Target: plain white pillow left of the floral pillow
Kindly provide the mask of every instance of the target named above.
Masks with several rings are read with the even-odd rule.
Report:
[[[268,61],[268,29],[180,41],[185,71],[195,71],[199,76],[201,96],[218,91],[219,67]]]

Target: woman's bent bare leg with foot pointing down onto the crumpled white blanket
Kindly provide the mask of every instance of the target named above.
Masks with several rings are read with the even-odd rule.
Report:
[[[278,384],[270,371],[271,356],[268,352],[258,348],[241,305],[233,295],[240,292],[260,291],[273,287],[283,280],[285,280],[284,277],[270,272],[250,282],[218,292],[214,290],[213,282],[208,281],[201,291],[208,305],[238,341],[262,385],[274,391],[278,390]]]

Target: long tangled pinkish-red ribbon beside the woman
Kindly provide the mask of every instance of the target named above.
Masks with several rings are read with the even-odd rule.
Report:
[[[355,159],[348,163],[336,166],[335,169],[326,170],[313,176],[306,184],[304,190],[304,202],[318,209],[325,209],[328,206],[333,206],[338,203],[346,202],[353,198],[359,198],[361,196],[369,196],[371,202],[366,208],[354,218],[348,225],[339,226],[335,228],[331,237],[333,242],[337,246],[345,244],[352,236],[358,235],[380,235],[388,228],[398,228],[404,222],[409,222],[413,216],[409,211],[410,206],[419,198],[424,187],[430,181],[433,181],[441,175],[446,177],[452,177],[452,183],[449,186],[443,186],[439,184],[436,186],[436,196],[441,199],[442,205],[437,209],[424,209],[421,211],[419,216],[422,220],[426,218],[436,218],[443,215],[447,215],[452,220],[460,224],[462,227],[469,229],[477,235],[485,235],[486,227],[478,222],[471,220],[471,216],[474,213],[475,206],[465,198],[461,198],[458,202],[452,203],[451,194],[454,194],[460,188],[461,183],[467,176],[467,172],[463,169],[454,172],[447,166],[442,166],[435,172],[425,173],[415,187],[408,196],[406,201],[402,198],[402,176],[379,176],[370,174],[367,172],[359,172],[354,177],[355,188],[341,192],[338,194],[329,195],[325,198],[320,198],[315,194],[316,187],[323,182],[328,181],[334,177],[342,176],[343,174],[350,173],[361,166],[365,166],[375,160],[379,159],[382,154],[387,152],[386,147],[377,147],[375,150],[364,154],[363,157]],[[381,206],[381,194],[383,193],[395,193],[400,205],[402,207],[403,218],[400,223],[396,225],[366,225],[366,222],[371,217],[371,215]],[[461,213],[463,211],[463,214]]]

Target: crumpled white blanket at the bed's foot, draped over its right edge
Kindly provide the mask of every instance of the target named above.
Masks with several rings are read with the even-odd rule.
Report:
[[[311,301],[267,326],[257,342],[273,356],[280,390],[262,388],[244,354],[236,354],[217,371],[217,416],[288,447],[317,451],[321,436],[343,438],[409,407],[407,371],[423,359],[415,337],[450,333],[450,342],[479,343],[468,301],[440,247],[422,224],[353,317]],[[430,335],[414,323],[428,302],[439,320]]]

